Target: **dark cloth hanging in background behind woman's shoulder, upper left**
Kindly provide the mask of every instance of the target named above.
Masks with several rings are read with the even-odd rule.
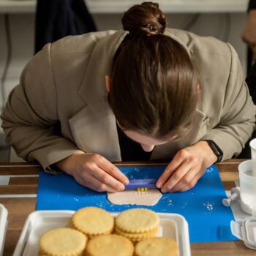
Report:
[[[97,31],[84,0],[37,0],[35,53],[62,37]]]

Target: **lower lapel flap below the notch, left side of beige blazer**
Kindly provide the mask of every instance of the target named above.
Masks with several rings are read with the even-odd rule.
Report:
[[[112,162],[121,161],[116,118],[107,99],[87,105],[69,119],[69,125],[78,148]]]

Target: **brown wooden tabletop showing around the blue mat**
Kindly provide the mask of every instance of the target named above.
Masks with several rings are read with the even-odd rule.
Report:
[[[224,187],[230,190],[238,181],[238,163],[241,159],[230,159],[218,164]],[[37,194],[37,174],[39,165],[27,163],[0,164],[0,175],[10,176],[8,185],[0,185],[0,203],[8,210],[8,228],[4,247],[4,256],[12,255],[20,236],[26,217],[35,210]],[[20,176],[20,177],[17,177]],[[10,197],[13,195],[13,197]],[[15,195],[21,195],[15,197]],[[27,195],[30,197],[23,197]],[[249,256],[256,255],[255,250],[244,246],[243,241],[193,243],[192,256]]]

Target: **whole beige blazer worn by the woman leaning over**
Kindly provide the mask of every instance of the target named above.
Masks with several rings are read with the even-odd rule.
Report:
[[[65,37],[26,65],[1,114],[7,143],[46,170],[80,148],[121,161],[116,119],[107,100],[105,75],[125,31]],[[156,146],[151,159],[170,159],[198,140],[214,140],[223,159],[236,156],[255,129],[255,105],[233,47],[213,37],[167,29],[200,73],[201,95],[192,128],[176,142]]]

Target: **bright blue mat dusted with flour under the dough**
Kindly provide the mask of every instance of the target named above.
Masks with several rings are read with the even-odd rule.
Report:
[[[158,178],[165,166],[122,167],[128,178]],[[219,172],[215,165],[206,170],[196,186],[187,192],[163,194],[155,206],[143,206],[164,213],[183,215],[189,223],[191,242],[235,241],[230,232],[234,219],[230,208],[222,206],[226,197]],[[94,192],[80,186],[72,176],[39,173],[37,210],[78,210],[85,206],[97,206],[107,211],[124,211],[141,206],[117,206],[110,203],[105,192]]]

